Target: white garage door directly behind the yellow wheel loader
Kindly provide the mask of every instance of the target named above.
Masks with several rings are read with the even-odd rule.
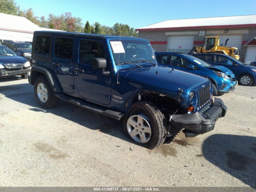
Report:
[[[216,36],[216,35],[211,35],[211,36]],[[243,35],[220,35],[220,45],[223,44],[224,46],[226,39],[228,38],[229,38],[227,43],[228,47],[236,47],[241,50]]]

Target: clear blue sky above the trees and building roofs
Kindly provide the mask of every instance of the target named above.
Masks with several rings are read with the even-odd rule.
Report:
[[[93,24],[139,28],[169,19],[256,14],[256,0],[14,0],[36,16],[71,12]]]

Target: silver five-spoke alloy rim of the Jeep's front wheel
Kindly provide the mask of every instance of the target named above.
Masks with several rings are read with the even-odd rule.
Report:
[[[126,127],[130,137],[138,143],[146,143],[151,138],[149,120],[143,114],[130,116]]]

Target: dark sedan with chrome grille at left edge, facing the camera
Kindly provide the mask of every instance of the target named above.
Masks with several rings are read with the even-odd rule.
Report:
[[[24,57],[17,56],[6,46],[0,45],[0,77],[20,75],[28,78],[30,62]]]

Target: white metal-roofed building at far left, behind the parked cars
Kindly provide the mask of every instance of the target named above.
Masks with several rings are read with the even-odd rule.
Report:
[[[41,28],[25,17],[0,13],[0,43],[5,40],[32,42],[34,31],[38,30],[54,29]]]

